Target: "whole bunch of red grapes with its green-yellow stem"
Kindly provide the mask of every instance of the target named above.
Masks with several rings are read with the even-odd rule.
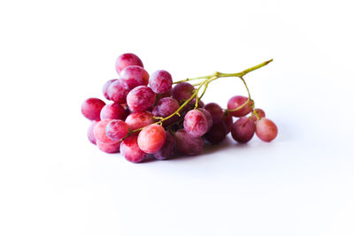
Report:
[[[132,163],[152,155],[164,160],[181,155],[198,155],[204,140],[218,144],[232,134],[235,141],[246,143],[254,133],[262,141],[273,141],[277,126],[266,118],[264,110],[255,109],[243,76],[272,60],[237,73],[212,75],[173,82],[169,72],[151,75],[135,54],[120,55],[116,61],[119,79],[104,84],[104,97],[89,98],[81,105],[84,117],[92,121],[89,141],[107,153],[120,153]],[[238,77],[248,96],[235,95],[222,109],[217,103],[204,105],[209,83],[223,77]],[[196,81],[195,84],[189,81]],[[173,86],[174,85],[174,86]],[[233,118],[238,118],[235,123]]]

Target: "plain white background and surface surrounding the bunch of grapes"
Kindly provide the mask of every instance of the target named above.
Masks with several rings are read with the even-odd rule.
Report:
[[[1,235],[353,235],[351,1],[2,1]],[[174,80],[240,72],[279,127],[130,164],[81,103],[134,52]],[[245,91],[215,81],[204,102]]]

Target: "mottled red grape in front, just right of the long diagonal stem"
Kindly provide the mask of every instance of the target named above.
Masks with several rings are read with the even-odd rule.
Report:
[[[189,110],[184,117],[183,126],[189,134],[197,137],[208,131],[208,121],[200,110]]]

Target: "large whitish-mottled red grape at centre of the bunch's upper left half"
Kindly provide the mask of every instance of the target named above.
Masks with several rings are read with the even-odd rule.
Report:
[[[132,111],[148,110],[155,103],[156,95],[147,86],[138,86],[127,94],[127,105]]]

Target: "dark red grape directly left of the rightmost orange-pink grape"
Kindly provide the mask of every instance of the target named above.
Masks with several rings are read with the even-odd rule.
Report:
[[[247,117],[237,119],[231,129],[235,141],[246,143],[250,141],[255,133],[254,122]]]

